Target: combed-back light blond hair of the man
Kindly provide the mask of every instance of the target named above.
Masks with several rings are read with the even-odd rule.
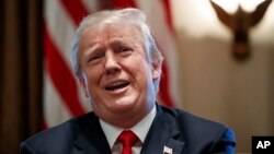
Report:
[[[84,17],[76,31],[75,37],[71,44],[71,63],[72,70],[77,78],[81,78],[81,68],[79,66],[79,42],[82,32],[87,27],[98,27],[107,23],[126,23],[133,24],[140,28],[145,39],[145,50],[148,61],[151,64],[159,64],[161,67],[163,57],[159,51],[155,38],[151,34],[150,26],[147,22],[145,13],[138,9],[127,8],[122,10],[104,10],[92,13]],[[155,87],[158,92],[160,78],[155,81]]]

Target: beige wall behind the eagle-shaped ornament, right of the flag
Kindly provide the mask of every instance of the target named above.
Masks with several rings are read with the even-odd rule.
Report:
[[[237,62],[231,34],[205,0],[173,0],[182,106],[230,126],[237,152],[251,152],[252,135],[274,135],[274,3],[251,31],[252,55]]]

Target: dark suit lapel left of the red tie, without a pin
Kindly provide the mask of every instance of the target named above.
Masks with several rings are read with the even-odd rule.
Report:
[[[94,114],[78,121],[80,133],[75,141],[71,154],[111,154],[105,134]]]

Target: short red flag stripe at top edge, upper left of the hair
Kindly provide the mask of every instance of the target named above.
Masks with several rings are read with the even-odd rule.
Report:
[[[60,0],[76,25],[79,25],[84,16],[88,15],[88,9],[80,0]]]

